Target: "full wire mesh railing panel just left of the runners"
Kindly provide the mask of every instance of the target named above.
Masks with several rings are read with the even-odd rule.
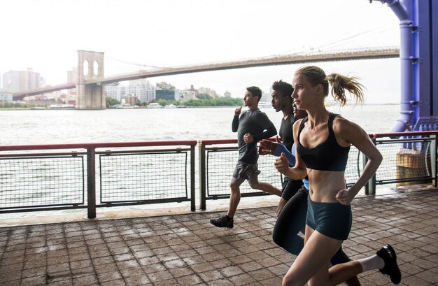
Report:
[[[188,152],[99,155],[101,203],[188,200]]]

